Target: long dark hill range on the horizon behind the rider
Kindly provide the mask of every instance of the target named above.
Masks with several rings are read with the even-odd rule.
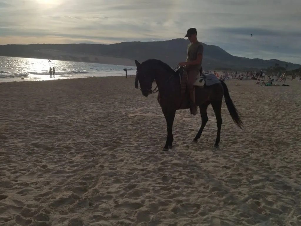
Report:
[[[171,67],[186,58],[187,39],[172,39],[160,42],[121,42],[104,44],[31,44],[0,46],[1,56],[45,58],[67,61],[97,62],[104,64],[135,65],[134,60],[149,58],[160,59]],[[301,65],[276,59],[263,60],[237,57],[218,46],[204,46],[204,69],[238,70],[261,69],[278,64],[287,69],[296,69]]]

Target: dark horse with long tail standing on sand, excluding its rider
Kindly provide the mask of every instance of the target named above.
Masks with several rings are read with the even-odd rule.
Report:
[[[135,60],[135,63],[137,66],[135,87],[138,89],[139,81],[141,92],[144,96],[148,96],[149,94],[153,93],[152,83],[154,80],[156,80],[159,89],[158,101],[167,123],[167,140],[163,150],[171,149],[173,142],[172,124],[175,118],[175,111],[178,109],[189,108],[187,96],[181,94],[180,78],[179,76],[175,75],[175,71],[171,67],[160,60],[149,59],[141,64]],[[235,108],[229,96],[228,88],[223,81],[212,86],[204,86],[202,88],[196,87],[195,103],[200,107],[202,125],[193,140],[194,142],[197,142],[197,140],[200,138],[208,121],[207,107],[209,104],[211,104],[216,115],[217,123],[217,137],[214,146],[219,146],[222,126],[221,107],[223,96],[225,96],[226,105],[233,121],[238,127],[243,127],[243,123],[240,120],[238,111]]]

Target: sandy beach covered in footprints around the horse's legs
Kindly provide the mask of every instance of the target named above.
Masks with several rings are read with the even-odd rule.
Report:
[[[226,81],[245,132],[181,110],[169,152],[134,77],[0,83],[0,225],[301,225],[301,82],[255,82]]]

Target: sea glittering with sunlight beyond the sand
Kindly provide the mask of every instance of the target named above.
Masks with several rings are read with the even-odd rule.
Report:
[[[55,68],[55,77],[49,67]],[[0,82],[125,76],[125,68],[128,75],[136,74],[134,66],[0,56]]]

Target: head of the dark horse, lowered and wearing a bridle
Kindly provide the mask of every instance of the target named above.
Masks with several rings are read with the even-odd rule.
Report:
[[[135,88],[138,89],[138,81],[140,83],[140,90],[143,96],[148,96],[152,93],[151,87],[154,81],[154,74],[151,73],[145,65],[140,64],[135,60],[135,64],[137,66],[137,73],[135,78]]]

